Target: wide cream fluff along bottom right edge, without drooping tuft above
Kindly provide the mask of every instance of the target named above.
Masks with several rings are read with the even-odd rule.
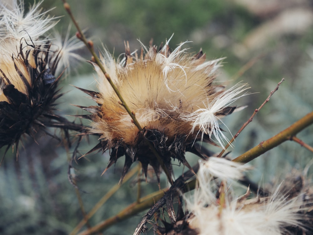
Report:
[[[201,185],[198,195],[202,187],[206,186]],[[303,227],[300,222],[302,214],[299,213],[304,210],[301,208],[301,197],[287,199],[279,193],[279,188],[270,197],[248,200],[232,200],[229,193],[225,192],[225,205],[213,203],[212,200],[205,201],[203,196],[195,196],[193,201],[186,201],[189,212],[194,215],[188,222],[191,228],[198,229],[198,235],[287,234],[287,227]]]

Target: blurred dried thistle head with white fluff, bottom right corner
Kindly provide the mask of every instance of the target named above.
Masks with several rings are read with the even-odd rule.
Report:
[[[248,188],[246,194],[236,197],[233,181],[240,179],[246,169],[226,159],[210,157],[202,161],[198,187],[192,196],[184,196],[186,214],[164,228],[157,227],[161,234],[311,234],[312,190],[299,184],[301,177],[287,177],[274,191],[272,187],[269,195],[250,194]],[[227,171],[232,173],[225,174]],[[219,182],[223,182],[220,187]]]

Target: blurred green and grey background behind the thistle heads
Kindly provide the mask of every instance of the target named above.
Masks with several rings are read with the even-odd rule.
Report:
[[[87,36],[93,39],[96,47],[102,50],[105,45],[115,57],[124,52],[124,40],[129,41],[133,51],[140,49],[137,39],[148,45],[153,38],[153,42],[159,45],[173,33],[172,48],[188,40],[192,41],[186,44],[190,51],[198,52],[202,48],[208,60],[226,56],[218,80],[229,81],[229,86],[238,81],[247,82],[251,86],[250,92],[254,93],[237,102],[238,105],[248,105],[246,109],[223,120],[232,133],[285,78],[270,102],[236,139],[232,157],[272,137],[313,109],[311,0],[68,2],[81,28],[86,29]],[[25,1],[27,7],[32,3]],[[63,16],[57,28],[65,35],[70,20],[62,2],[46,0],[42,6],[44,9],[54,8],[50,12],[52,15]],[[86,50],[80,50],[80,53],[89,60]],[[242,74],[244,66],[252,61],[252,67]],[[72,68],[70,76],[62,82],[64,92],[69,91],[60,98],[60,110],[64,115],[82,113],[69,104],[94,105],[84,93],[69,84],[95,89],[95,76],[89,63],[82,62]],[[298,137],[312,146],[313,128],[307,128]],[[57,140],[42,133],[38,133],[38,143],[25,138],[18,160],[16,154],[9,151],[0,168],[0,234],[69,234],[82,219],[75,188],[67,179],[68,161],[73,149],[66,151]],[[96,138],[83,141],[80,153],[86,153],[95,144]],[[212,150],[219,152],[216,148]],[[3,152],[4,149],[1,150]],[[285,142],[255,159],[251,163],[255,169],[249,176],[255,182],[266,184],[274,176],[289,173],[292,167],[303,169],[312,156],[300,145]],[[108,163],[108,155],[98,153],[88,156],[88,159],[75,163],[77,184],[87,192],[81,192],[86,212],[118,183],[123,166],[121,158],[115,167],[100,176]],[[192,155],[187,159],[191,165],[198,160]],[[176,167],[176,177],[181,173],[182,167]],[[166,186],[163,178],[161,187]],[[157,189],[155,182],[142,183],[142,195]],[[135,201],[136,190],[134,184],[123,185],[101,207],[90,224],[95,225]],[[111,227],[104,234],[132,234],[144,213]],[[152,231],[149,233],[153,234]]]

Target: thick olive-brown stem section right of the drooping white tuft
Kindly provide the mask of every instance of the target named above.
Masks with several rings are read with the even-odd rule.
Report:
[[[281,131],[277,135],[269,138],[268,140],[262,141],[260,144],[240,155],[239,157],[233,159],[235,162],[247,163],[256,157],[264,154],[269,149],[273,149],[274,147],[280,145],[286,140],[290,140],[293,136],[299,133],[301,130],[310,126],[313,123],[313,112],[308,113],[300,120],[296,121],[290,127]]]

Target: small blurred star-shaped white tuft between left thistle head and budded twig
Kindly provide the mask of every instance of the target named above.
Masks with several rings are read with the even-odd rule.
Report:
[[[53,37],[51,40],[50,50],[55,51],[52,60],[55,60],[58,57],[59,63],[56,70],[56,74],[60,74],[62,70],[65,69],[65,74],[70,73],[70,68],[73,67],[73,64],[85,59],[75,53],[74,51],[82,49],[85,44],[79,40],[76,35],[69,37],[71,25],[69,25],[65,38],[63,39],[59,32],[54,31]],[[60,66],[61,65],[61,66]]]

